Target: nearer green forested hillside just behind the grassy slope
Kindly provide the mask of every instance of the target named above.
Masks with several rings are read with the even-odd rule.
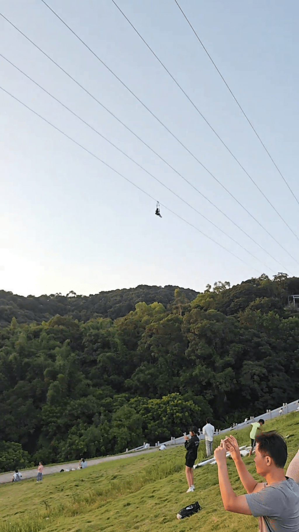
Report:
[[[150,287],[148,287],[150,288]],[[0,329],[0,469],[124,451],[299,397],[299,278]],[[26,298],[27,299],[27,298]],[[168,301],[167,301],[168,303]]]

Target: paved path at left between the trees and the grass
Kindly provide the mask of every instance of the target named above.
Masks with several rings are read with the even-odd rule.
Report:
[[[151,449],[147,449],[145,451],[137,451],[135,453],[126,453],[126,454],[117,454],[115,456],[105,456],[105,458],[95,458],[93,460],[86,460],[88,465],[96,465],[101,464],[103,462],[111,462],[112,460],[121,460],[122,458],[130,458],[130,456],[139,456],[139,454],[147,454],[152,453],[153,451],[157,451],[159,447],[152,447]],[[61,469],[78,469],[79,460],[77,462],[73,463],[67,463],[65,465],[50,465],[49,467],[44,467],[43,475],[52,475],[53,473],[59,473]],[[29,469],[28,471],[21,471],[22,473],[22,479],[25,478],[34,478],[37,475],[37,468],[36,469]],[[0,475],[0,484],[6,484],[7,482],[12,481],[13,472],[5,473],[5,475]]]

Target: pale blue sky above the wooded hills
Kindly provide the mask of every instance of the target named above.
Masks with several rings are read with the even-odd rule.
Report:
[[[48,0],[190,151],[299,262],[298,240],[256,190],[111,0]],[[299,205],[188,27],[174,0],[117,0],[213,128],[297,234]],[[299,198],[296,0],[180,0],[180,5]],[[238,223],[265,254],[0,17],[0,53],[142,164],[209,222],[0,57],[0,85],[205,238],[0,90],[0,288],[78,294],[173,284],[204,289],[298,262],[209,176],[40,0],[3,0],[1,13]]]

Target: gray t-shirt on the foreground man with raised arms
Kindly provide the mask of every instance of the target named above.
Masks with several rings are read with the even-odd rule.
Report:
[[[245,495],[260,532],[298,532],[299,486],[292,478]]]

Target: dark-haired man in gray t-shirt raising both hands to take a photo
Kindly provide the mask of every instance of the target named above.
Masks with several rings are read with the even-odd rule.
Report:
[[[247,495],[237,496],[231,487],[226,452],[234,460],[238,475]],[[240,455],[234,436],[221,440],[214,451],[218,465],[218,479],[223,505],[230,512],[242,513],[259,518],[260,532],[298,532],[299,530],[299,486],[286,478],[284,465],[287,460],[285,440],[275,431],[256,436],[256,472],[266,479],[258,483]]]

